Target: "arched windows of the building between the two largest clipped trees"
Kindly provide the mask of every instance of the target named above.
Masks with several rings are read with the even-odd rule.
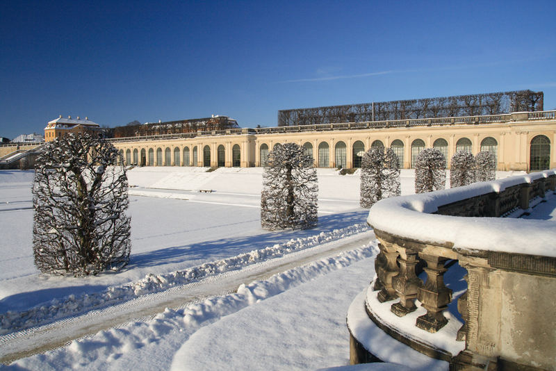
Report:
[[[174,147],[173,151],[170,147],[164,150],[162,147],[149,149],[120,149],[120,162],[122,165],[140,165],[140,166],[199,166],[199,158],[202,160],[201,166],[210,167],[211,162],[211,146],[205,145],[202,149],[202,157],[199,157],[199,149],[193,146]],[[216,166],[223,167],[226,165],[226,149],[224,145],[219,145],[216,150]],[[241,149],[239,145],[231,148],[231,166],[241,166]]]

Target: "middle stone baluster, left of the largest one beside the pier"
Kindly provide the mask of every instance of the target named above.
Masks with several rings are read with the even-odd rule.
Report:
[[[400,297],[400,302],[392,304],[390,310],[399,317],[416,310],[415,299],[417,289],[423,286],[423,282],[415,274],[415,267],[418,263],[417,252],[403,247],[398,247],[400,256],[400,272],[392,278],[392,286],[396,294]]]

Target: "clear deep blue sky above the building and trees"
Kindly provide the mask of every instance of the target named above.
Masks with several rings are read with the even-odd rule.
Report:
[[[0,0],[0,136],[507,90],[556,109],[556,1]]]

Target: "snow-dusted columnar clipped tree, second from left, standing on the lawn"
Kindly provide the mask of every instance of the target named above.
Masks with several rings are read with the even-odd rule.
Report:
[[[295,143],[268,154],[261,192],[261,226],[307,229],[317,225],[318,179],[313,158]]]

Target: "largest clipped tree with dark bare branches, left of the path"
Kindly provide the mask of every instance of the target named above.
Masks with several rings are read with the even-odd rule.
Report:
[[[85,276],[129,262],[127,176],[111,143],[88,133],[47,142],[33,184],[33,254],[41,272]]]

